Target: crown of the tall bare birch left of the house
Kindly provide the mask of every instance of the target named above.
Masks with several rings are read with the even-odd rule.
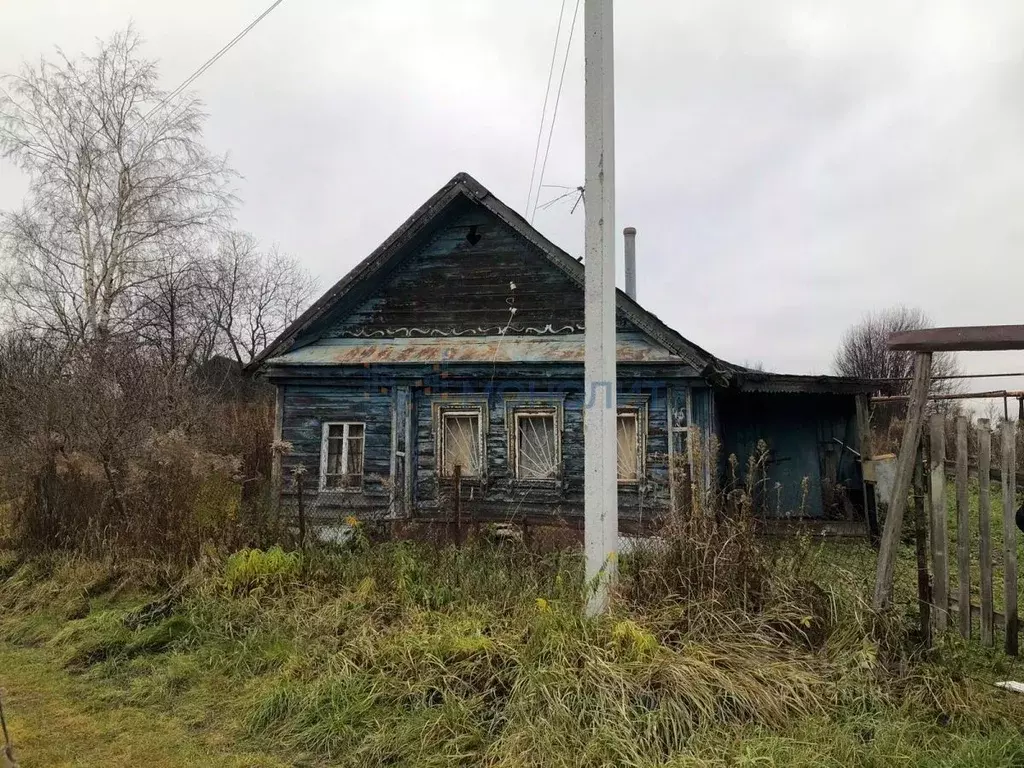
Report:
[[[30,178],[0,214],[6,298],[20,325],[103,339],[132,321],[169,243],[229,211],[231,172],[202,144],[198,98],[166,104],[131,30],[91,55],[26,65],[0,84],[0,152]]]

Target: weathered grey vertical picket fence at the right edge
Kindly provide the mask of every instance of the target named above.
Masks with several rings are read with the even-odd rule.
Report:
[[[925,495],[924,466],[921,453],[913,474],[913,513],[918,555],[918,599],[921,606],[922,632],[926,639],[934,633],[945,632],[955,616],[959,634],[970,638],[977,629],[983,645],[995,643],[996,631],[1001,630],[1004,647],[1008,653],[1018,650],[1018,595],[1017,595],[1017,458],[1015,425],[1004,422],[998,438],[1000,467],[997,487],[1002,494],[1001,519],[992,519],[992,431],[987,419],[977,424],[977,457],[969,456],[967,417],[956,420],[955,445],[951,457],[954,462],[956,525],[955,549],[950,550],[949,516],[947,507],[947,445],[944,417],[932,416],[929,424],[928,494]],[[978,480],[978,518],[971,518],[972,476]],[[927,512],[926,512],[927,502]],[[1001,525],[1001,557],[996,558],[992,549],[993,528]],[[977,546],[975,546],[977,544]],[[953,560],[952,554],[955,554]],[[972,591],[972,561],[977,558],[977,603]],[[930,563],[929,563],[930,560]],[[931,573],[929,573],[931,565]],[[950,572],[955,568],[956,594],[950,594]],[[1002,599],[994,598],[995,571],[1001,570]],[[1002,610],[996,610],[996,602]]]

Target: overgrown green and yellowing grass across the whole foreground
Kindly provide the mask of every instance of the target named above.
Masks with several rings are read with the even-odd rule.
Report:
[[[575,553],[5,562],[0,686],[26,766],[1024,765],[1024,696],[991,686],[1019,667],[909,646],[912,602],[865,607],[859,544],[778,546],[749,594],[685,601],[635,591],[665,562],[624,558],[593,621]]]

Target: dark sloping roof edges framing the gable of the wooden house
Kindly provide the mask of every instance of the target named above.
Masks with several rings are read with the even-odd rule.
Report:
[[[310,330],[317,321],[336,307],[356,285],[386,269],[396,257],[400,258],[407,246],[414,243],[418,236],[429,230],[432,223],[461,197],[489,211],[517,234],[536,246],[548,261],[566,274],[581,290],[584,290],[585,271],[584,265],[580,261],[541,234],[522,216],[496,198],[468,173],[458,173],[378,246],[370,256],[356,264],[312,306],[285,329],[253,359],[249,365],[250,370],[255,370],[269,358],[289,351],[304,332]],[[730,368],[727,364],[721,362],[707,350],[683,338],[623,291],[616,289],[615,301],[617,309],[638,329],[663,344],[667,349],[678,354],[684,361],[700,371],[702,375],[716,379],[727,378],[727,371]]]

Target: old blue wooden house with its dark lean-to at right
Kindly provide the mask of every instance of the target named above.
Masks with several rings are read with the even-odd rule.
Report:
[[[837,490],[851,514],[869,383],[733,366],[616,300],[624,528],[668,509],[670,466],[742,474],[760,440],[766,514],[822,516]],[[444,517],[458,471],[465,515],[579,521],[583,321],[584,265],[458,174],[255,361],[284,493],[301,466],[317,514]]]

